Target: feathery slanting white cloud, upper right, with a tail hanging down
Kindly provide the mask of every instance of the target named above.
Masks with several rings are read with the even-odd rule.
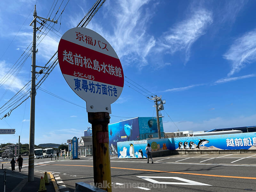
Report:
[[[201,9],[193,12],[188,19],[174,25],[165,32],[158,51],[167,51],[173,54],[177,51],[185,51],[185,63],[189,60],[192,44],[205,33],[207,26],[212,24],[212,13]],[[163,40],[164,39],[164,40]],[[164,43],[163,43],[164,42]]]

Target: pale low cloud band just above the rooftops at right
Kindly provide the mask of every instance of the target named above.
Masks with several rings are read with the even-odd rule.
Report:
[[[238,116],[232,118],[222,118],[216,117],[201,122],[193,121],[182,121],[174,122],[180,131],[208,131],[211,129],[220,129],[220,128],[231,128],[231,127],[243,127],[243,126],[254,126],[256,124],[256,115],[251,116]],[[174,132],[177,130],[177,127],[171,122],[163,122],[164,132]]]

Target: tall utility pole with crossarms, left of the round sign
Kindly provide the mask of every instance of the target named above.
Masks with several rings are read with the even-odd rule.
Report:
[[[31,103],[30,103],[30,132],[29,132],[29,154],[28,154],[28,181],[34,181],[34,149],[35,149],[35,99],[36,99],[36,73],[42,74],[43,70],[36,72],[36,31],[43,26],[45,20],[57,23],[57,21],[50,20],[50,18],[45,19],[37,16],[36,14],[36,5],[34,11],[34,19],[29,26],[33,24],[33,49],[32,49],[32,75],[31,75]],[[41,26],[36,28],[36,18],[43,21]],[[43,20],[42,20],[43,19]],[[40,67],[44,68],[44,67]]]

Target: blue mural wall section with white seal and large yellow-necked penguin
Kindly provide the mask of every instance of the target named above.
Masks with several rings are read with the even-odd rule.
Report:
[[[147,140],[117,142],[118,158],[148,158]]]

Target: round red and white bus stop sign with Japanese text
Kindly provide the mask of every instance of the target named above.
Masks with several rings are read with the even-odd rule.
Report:
[[[86,101],[87,112],[111,113],[124,87],[124,72],[112,46],[95,31],[69,29],[58,47],[60,70],[71,89]]]

